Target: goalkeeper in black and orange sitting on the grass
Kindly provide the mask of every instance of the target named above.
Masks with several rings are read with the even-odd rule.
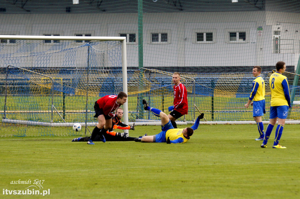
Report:
[[[130,129],[134,130],[134,124],[132,126],[123,124],[120,120],[123,117],[123,109],[117,108],[115,114],[112,118],[113,126],[108,131],[106,131],[106,134],[103,134],[106,141],[134,141],[136,137],[129,137],[128,133],[117,133],[113,131],[114,129]],[[145,134],[144,136],[146,136]],[[142,137],[142,136],[140,136]],[[91,139],[91,137],[78,137],[72,140],[72,142],[88,142],[88,140]],[[102,141],[100,136],[97,135],[95,137],[94,141]]]

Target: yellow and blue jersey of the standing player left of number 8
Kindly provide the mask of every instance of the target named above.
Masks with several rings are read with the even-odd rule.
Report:
[[[249,100],[260,101],[265,99],[265,81],[257,76],[252,82],[252,89]]]

